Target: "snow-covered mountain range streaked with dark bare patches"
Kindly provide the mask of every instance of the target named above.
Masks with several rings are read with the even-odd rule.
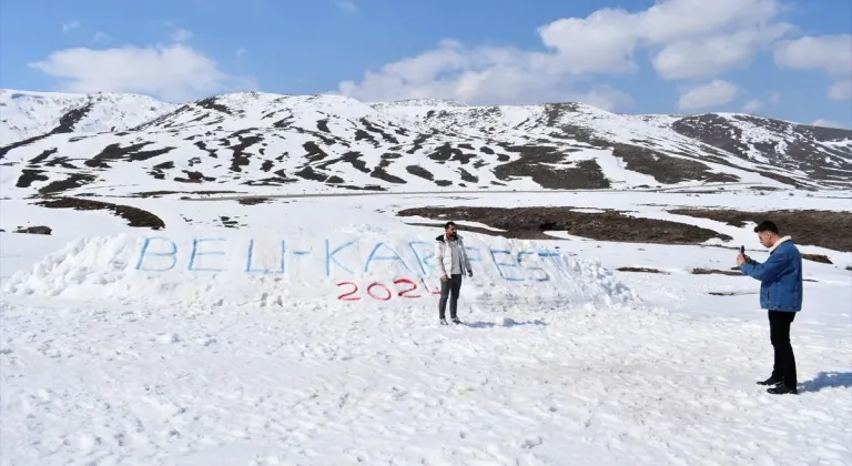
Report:
[[[258,92],[183,105],[126,94],[0,99],[4,196],[852,186],[852,131],[746,114]]]

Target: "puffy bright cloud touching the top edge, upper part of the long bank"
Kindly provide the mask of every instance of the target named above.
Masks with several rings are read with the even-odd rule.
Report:
[[[663,78],[704,78],[744,65],[757,48],[790,31],[772,22],[778,13],[777,0],[667,0],[635,13],[601,9],[560,19],[539,34],[574,72],[632,71],[637,48],[662,47],[653,62]]]

